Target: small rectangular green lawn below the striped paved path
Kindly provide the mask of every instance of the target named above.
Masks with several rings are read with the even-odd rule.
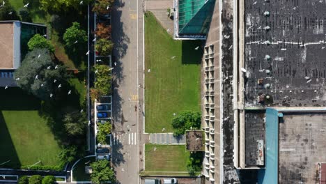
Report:
[[[145,171],[187,171],[189,156],[185,145],[146,144]]]

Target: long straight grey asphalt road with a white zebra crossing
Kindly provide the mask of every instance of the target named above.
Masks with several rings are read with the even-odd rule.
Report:
[[[116,1],[112,12],[114,49],[112,164],[118,183],[139,183],[143,169],[142,1]],[[141,141],[141,142],[139,142]]]

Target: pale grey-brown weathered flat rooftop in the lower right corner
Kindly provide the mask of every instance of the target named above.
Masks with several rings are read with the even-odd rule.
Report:
[[[317,183],[326,161],[326,112],[283,112],[279,123],[279,183]]]

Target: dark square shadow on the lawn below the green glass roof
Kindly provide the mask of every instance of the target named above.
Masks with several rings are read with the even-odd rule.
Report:
[[[183,40],[182,42],[182,63],[199,65],[203,56],[203,40]]]

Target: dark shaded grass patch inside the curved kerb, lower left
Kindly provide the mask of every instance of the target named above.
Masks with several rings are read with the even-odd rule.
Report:
[[[83,158],[72,170],[73,181],[91,181],[91,174],[85,174],[85,166],[95,162],[95,157]]]

